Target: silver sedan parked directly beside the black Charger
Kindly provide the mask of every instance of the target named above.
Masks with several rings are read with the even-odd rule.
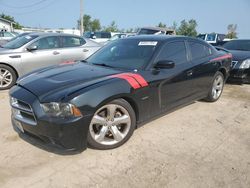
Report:
[[[101,47],[77,35],[30,33],[0,48],[0,90],[9,89],[18,77],[65,61],[84,60]]]

